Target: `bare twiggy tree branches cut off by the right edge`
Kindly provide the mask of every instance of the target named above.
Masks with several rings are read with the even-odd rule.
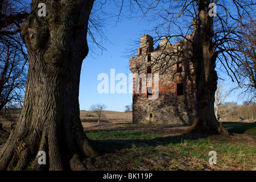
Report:
[[[237,78],[235,89],[242,88],[242,97],[256,101],[256,16],[244,21],[240,23],[242,36],[233,42],[237,52],[232,61],[236,66],[230,69]]]

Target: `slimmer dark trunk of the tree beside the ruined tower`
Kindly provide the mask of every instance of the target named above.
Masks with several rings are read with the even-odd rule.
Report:
[[[214,114],[214,94],[217,89],[216,55],[214,53],[213,18],[208,15],[209,1],[199,1],[198,36],[194,45],[193,63],[196,73],[199,118],[195,119],[191,131],[199,133],[226,133]],[[196,47],[196,48],[195,48]]]

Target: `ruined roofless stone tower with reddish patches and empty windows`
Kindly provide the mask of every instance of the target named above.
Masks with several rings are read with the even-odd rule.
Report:
[[[189,43],[183,40],[171,45],[163,38],[156,49],[153,45],[150,35],[141,36],[138,56],[130,58],[133,123],[191,124],[197,104],[193,64],[186,59]]]

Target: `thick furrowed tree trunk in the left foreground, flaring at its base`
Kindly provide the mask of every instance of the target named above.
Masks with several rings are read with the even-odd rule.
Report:
[[[38,4],[46,3],[46,17]],[[22,23],[29,69],[24,104],[0,153],[0,170],[84,170],[82,159],[96,155],[86,137],[79,109],[82,60],[93,0],[32,1]],[[38,164],[39,151],[46,164]]]

